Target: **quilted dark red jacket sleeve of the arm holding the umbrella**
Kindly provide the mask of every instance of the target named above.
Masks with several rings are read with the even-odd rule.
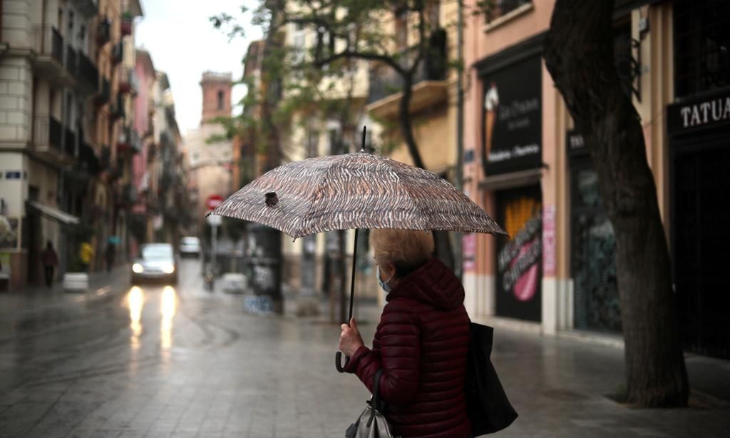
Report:
[[[345,371],[355,372],[370,392],[375,372],[383,368],[380,393],[386,403],[396,406],[407,404],[418,392],[420,364],[418,318],[410,313],[407,303],[399,301],[385,305],[373,350],[360,347],[345,367]]]

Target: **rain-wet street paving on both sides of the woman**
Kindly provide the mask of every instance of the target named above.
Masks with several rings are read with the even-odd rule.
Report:
[[[130,288],[121,272],[83,299],[0,295],[0,437],[344,436],[369,393],[334,370],[336,325],[247,314],[245,296],[204,291],[197,261],[180,275],[177,288]],[[361,312],[369,343],[377,309]],[[607,399],[623,383],[614,347],[500,329],[493,362],[520,413],[496,436],[726,437],[730,428],[719,399],[695,397],[685,410]],[[688,364],[710,384],[718,369],[730,372],[722,361]]]

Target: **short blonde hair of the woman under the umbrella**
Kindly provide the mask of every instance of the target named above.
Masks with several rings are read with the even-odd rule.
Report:
[[[430,231],[376,228],[370,231],[370,246],[377,263],[394,264],[402,277],[431,258],[434,237]]]

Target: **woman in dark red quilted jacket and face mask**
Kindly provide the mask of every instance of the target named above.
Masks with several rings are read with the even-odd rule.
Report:
[[[339,350],[372,392],[382,368],[380,393],[393,435],[461,438],[471,435],[464,400],[469,316],[464,288],[444,264],[431,258],[430,233],[374,229],[370,245],[377,280],[387,296],[372,350],[356,321],[342,324]]]

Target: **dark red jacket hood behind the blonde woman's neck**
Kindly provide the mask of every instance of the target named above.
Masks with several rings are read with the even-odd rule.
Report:
[[[385,301],[396,297],[416,299],[438,309],[452,310],[464,304],[464,286],[451,269],[437,258],[431,258],[400,280],[385,296]]]

